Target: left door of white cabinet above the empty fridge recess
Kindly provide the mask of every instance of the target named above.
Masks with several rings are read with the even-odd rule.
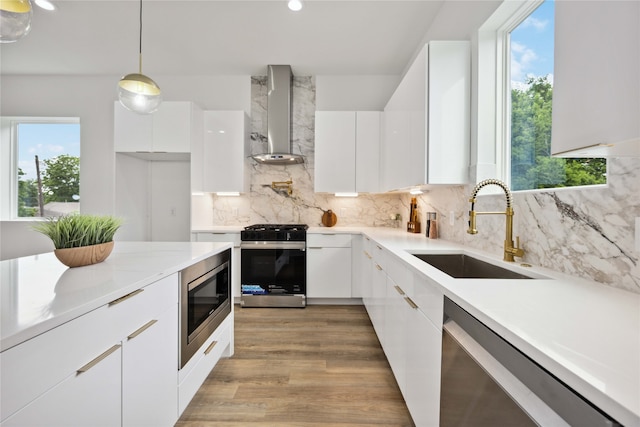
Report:
[[[116,152],[152,151],[153,115],[129,111],[113,104],[113,145]]]

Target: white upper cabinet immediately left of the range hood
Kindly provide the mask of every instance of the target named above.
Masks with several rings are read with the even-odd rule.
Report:
[[[244,111],[205,111],[202,155],[194,155],[191,167],[201,173],[193,175],[193,188],[210,192],[249,191],[249,118]],[[202,183],[196,180],[202,176]]]

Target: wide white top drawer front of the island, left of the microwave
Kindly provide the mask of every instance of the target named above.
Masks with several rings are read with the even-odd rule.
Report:
[[[0,416],[13,414],[177,301],[174,274],[0,353]]]

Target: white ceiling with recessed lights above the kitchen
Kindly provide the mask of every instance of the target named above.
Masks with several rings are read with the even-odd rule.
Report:
[[[4,75],[124,75],[137,72],[139,3],[52,0],[35,8],[31,32],[0,45]],[[145,0],[143,73],[400,75],[430,34],[469,38],[499,1]],[[436,19],[437,17],[437,19]]]

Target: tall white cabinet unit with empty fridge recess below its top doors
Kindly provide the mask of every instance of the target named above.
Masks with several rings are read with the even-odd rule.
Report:
[[[191,147],[202,139],[202,110],[163,102],[140,115],[114,104],[116,215],[120,240],[191,239]]]

